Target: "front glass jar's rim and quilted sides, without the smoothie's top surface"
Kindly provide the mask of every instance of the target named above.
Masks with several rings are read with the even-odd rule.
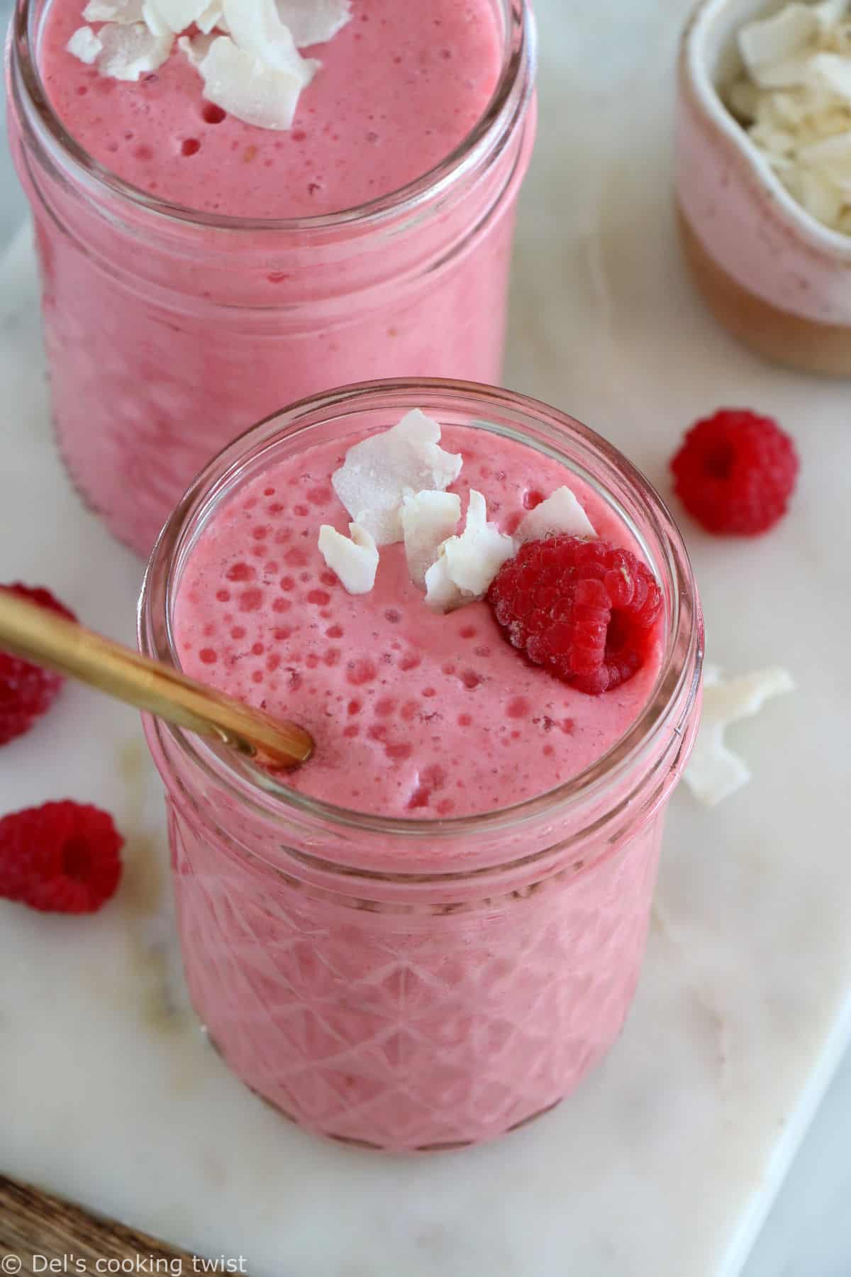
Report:
[[[665,599],[665,651],[625,736],[518,806],[422,820],[309,798],[179,728],[145,723],[167,793],[186,978],[211,1039],[301,1125],[394,1151],[519,1125],[572,1091],[618,1037],[665,807],[697,729],[703,641],[680,534],[614,447],[535,400],[427,379],[314,397],[218,456],[154,549],[142,650],[177,664],[181,575],[223,502],[274,461],[330,438],[342,451],[412,406],[555,457],[638,540]]]

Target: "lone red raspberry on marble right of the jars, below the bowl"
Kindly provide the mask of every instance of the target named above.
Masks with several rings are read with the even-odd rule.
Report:
[[[799,460],[771,418],[721,409],[692,427],[671,470],[680,501],[708,531],[759,536],[786,513]]]

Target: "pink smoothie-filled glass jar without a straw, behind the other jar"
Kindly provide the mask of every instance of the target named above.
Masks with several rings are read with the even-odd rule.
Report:
[[[232,19],[233,5],[263,8],[231,0]],[[204,28],[221,13],[195,8]],[[59,444],[140,553],[198,469],[282,402],[364,373],[499,379],[533,134],[524,5],[276,11],[293,8],[342,26],[295,54],[311,78],[287,128],[225,110],[228,86],[202,75],[233,20],[208,34],[188,22],[128,69],[106,57],[106,33],[154,38],[129,20],[135,0],[20,0],[15,18],[13,153],[36,217]]]

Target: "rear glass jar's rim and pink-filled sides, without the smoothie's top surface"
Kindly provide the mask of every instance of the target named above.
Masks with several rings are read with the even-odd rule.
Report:
[[[198,213],[119,180],[42,86],[48,0],[18,0],[9,126],[32,204],[59,448],[110,530],[148,554],[181,493],[253,421],[365,377],[500,379],[514,207],[535,135],[526,0],[491,0],[503,70],[417,181],[324,217]]]

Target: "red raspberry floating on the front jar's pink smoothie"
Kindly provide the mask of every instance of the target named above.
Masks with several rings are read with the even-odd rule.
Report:
[[[527,541],[499,570],[487,600],[515,647],[592,696],[640,669],[662,594],[652,572],[609,541]]]

